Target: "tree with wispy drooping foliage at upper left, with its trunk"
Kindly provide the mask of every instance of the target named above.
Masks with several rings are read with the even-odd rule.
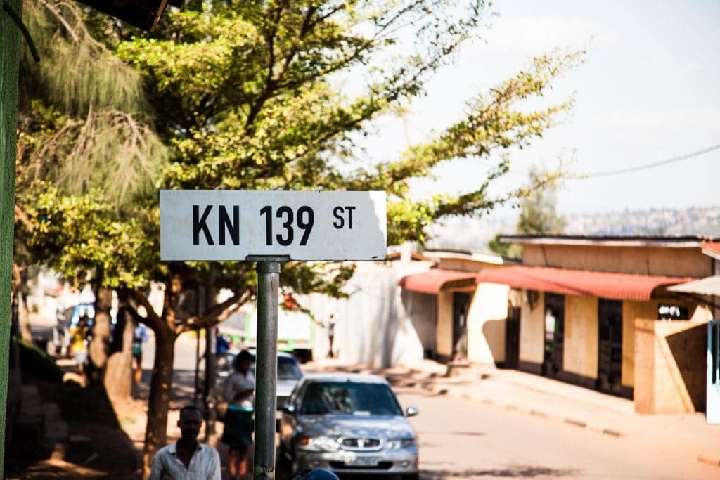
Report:
[[[42,62],[24,53],[20,64],[19,145],[17,162],[17,243],[14,261],[30,265],[49,252],[27,249],[25,238],[37,225],[27,215],[38,190],[53,186],[58,196],[87,194],[114,205],[108,217],[122,219],[136,201],[154,194],[154,181],[166,148],[148,124],[141,78],[99,43],[88,30],[89,18],[73,2],[27,1],[30,27]],[[94,19],[96,30],[107,20]],[[40,255],[34,255],[40,254]],[[104,381],[110,336],[112,292],[102,284],[102,268],[86,264],[68,278],[96,284],[96,319],[89,348],[89,378],[104,384],[111,397],[130,395],[130,373]],[[114,356],[129,356],[129,345]],[[116,362],[117,363],[117,362]],[[112,369],[113,361],[110,361]]]

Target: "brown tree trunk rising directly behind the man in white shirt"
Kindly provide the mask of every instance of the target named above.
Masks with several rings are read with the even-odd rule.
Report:
[[[143,449],[143,479],[150,476],[150,463],[155,453],[167,443],[168,405],[173,380],[175,332],[165,325],[155,331],[155,363],[150,380],[148,426]]]

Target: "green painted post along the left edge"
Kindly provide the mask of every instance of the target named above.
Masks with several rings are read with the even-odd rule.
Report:
[[[22,12],[22,0],[4,0]],[[1,4],[2,2],[0,2]],[[5,461],[8,345],[10,343],[10,279],[15,209],[17,86],[20,30],[0,9],[0,477]]]

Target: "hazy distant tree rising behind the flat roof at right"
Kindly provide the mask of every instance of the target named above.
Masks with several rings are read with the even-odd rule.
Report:
[[[537,184],[546,179],[544,188],[533,189],[528,196],[521,200],[520,216],[518,217],[518,232],[530,235],[545,233],[562,233],[567,221],[558,215],[557,206],[557,175],[548,177],[538,166],[530,168],[530,183]],[[549,180],[547,179],[549,178]]]

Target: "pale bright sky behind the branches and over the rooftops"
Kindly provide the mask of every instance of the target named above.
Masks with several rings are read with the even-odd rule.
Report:
[[[572,174],[642,166],[720,145],[720,1],[499,0],[485,42],[466,45],[455,65],[428,84],[403,118],[386,118],[369,137],[371,156],[392,158],[462,116],[474,94],[555,47],[583,48],[583,65],[554,82],[548,101],[575,95],[562,124],[513,152],[498,193],[526,181],[531,164]],[[388,157],[390,155],[390,157]],[[470,191],[477,162],[437,168],[413,184],[416,197]],[[563,214],[720,205],[714,178],[720,149],[667,166],[564,181]],[[509,211],[508,211],[509,212]]]

